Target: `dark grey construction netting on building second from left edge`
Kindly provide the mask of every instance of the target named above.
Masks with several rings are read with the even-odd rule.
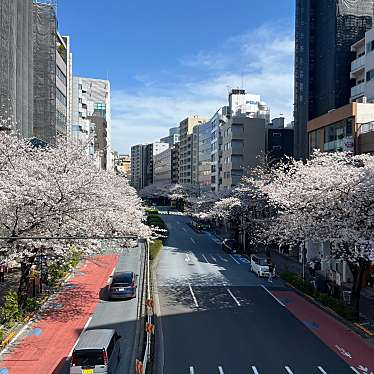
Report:
[[[33,4],[34,136],[56,138],[56,14],[52,5]]]

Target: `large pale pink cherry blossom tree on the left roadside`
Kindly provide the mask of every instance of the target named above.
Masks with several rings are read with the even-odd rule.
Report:
[[[19,295],[27,297],[30,268],[43,250],[64,258],[72,240],[41,237],[147,237],[142,202],[124,178],[99,170],[85,146],[59,139],[53,147],[35,147],[14,134],[0,132],[0,233],[9,240],[2,252],[23,259]],[[30,239],[19,239],[19,238]],[[100,242],[77,242],[85,254]],[[46,253],[45,253],[46,252]]]

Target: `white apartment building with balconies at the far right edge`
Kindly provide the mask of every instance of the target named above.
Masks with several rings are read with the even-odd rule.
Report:
[[[351,102],[374,102],[374,29],[366,32],[365,37],[351,46],[356,54],[351,63]]]

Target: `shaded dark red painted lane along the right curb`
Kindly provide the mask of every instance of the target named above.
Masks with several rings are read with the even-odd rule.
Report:
[[[272,293],[327,346],[356,368],[358,373],[374,373],[374,348],[363,338],[295,292]]]

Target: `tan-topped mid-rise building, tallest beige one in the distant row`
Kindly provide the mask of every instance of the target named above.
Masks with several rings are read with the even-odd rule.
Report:
[[[193,128],[206,121],[204,117],[192,116],[184,119],[179,125],[179,183],[181,184],[192,183]]]

